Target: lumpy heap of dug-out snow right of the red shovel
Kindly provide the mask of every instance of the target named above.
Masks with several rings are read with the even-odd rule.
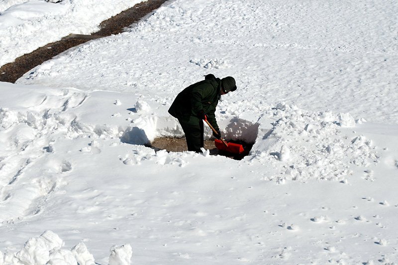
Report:
[[[269,115],[279,118],[271,132],[259,135],[251,152],[252,160],[280,168],[279,176],[269,179],[346,182],[352,175],[350,165],[368,167],[379,162],[371,140],[343,130],[347,124],[355,126],[349,113],[309,112],[279,103]]]

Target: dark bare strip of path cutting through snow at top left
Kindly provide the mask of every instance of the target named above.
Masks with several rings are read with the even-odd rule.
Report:
[[[133,7],[105,20],[100,24],[100,31],[91,35],[71,34],[60,41],[49,43],[37,50],[25,54],[13,63],[3,65],[0,68],[0,81],[15,83],[22,75],[34,67],[50,60],[54,56],[79,44],[92,39],[98,39],[112,34],[122,32],[126,27],[138,22],[153,10],[159,8],[167,0],[148,0],[134,5]]]

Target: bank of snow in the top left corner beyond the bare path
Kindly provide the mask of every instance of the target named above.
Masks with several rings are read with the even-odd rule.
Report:
[[[90,34],[100,22],[142,0],[11,0],[0,2],[0,66],[69,34]]]

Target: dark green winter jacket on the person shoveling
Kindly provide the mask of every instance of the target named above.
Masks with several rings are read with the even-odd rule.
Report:
[[[169,113],[182,122],[191,123],[200,110],[207,115],[207,120],[219,130],[215,119],[215,107],[220,98],[221,80],[214,78],[195,83],[181,91],[169,108]],[[199,119],[198,119],[199,120]]]

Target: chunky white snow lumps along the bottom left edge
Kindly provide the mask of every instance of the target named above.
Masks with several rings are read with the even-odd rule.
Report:
[[[17,253],[0,252],[0,265],[95,265],[93,255],[81,242],[71,250],[63,249],[64,242],[52,231],[30,238]],[[132,257],[130,245],[112,246],[109,265],[129,265]]]

